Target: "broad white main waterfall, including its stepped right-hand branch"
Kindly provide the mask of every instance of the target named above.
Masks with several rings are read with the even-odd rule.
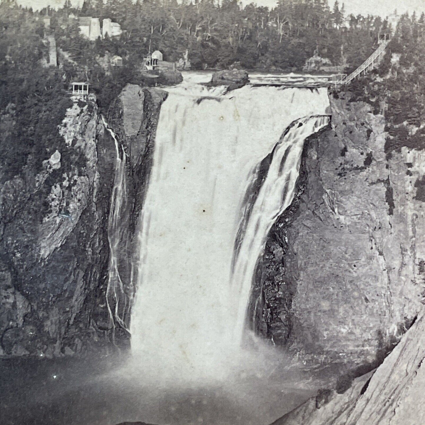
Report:
[[[329,123],[329,99],[326,88],[168,91],[139,224],[132,353],[158,380],[217,377],[241,355],[255,264],[292,202],[305,139]]]

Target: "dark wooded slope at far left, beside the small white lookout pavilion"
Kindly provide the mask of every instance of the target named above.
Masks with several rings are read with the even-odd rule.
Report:
[[[62,72],[42,66],[43,31],[34,14],[0,4],[0,181],[37,169],[61,144],[56,126],[72,102]]]

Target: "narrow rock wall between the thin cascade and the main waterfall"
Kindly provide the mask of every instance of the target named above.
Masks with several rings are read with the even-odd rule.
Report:
[[[108,122],[123,144],[127,156],[125,180],[128,198],[119,219],[121,243],[117,258],[122,280],[121,296],[128,300],[126,311],[119,314],[127,326],[139,264],[136,229],[152,167],[159,112],[166,97],[167,93],[160,89],[127,84],[108,113]],[[111,303],[115,305],[115,300]],[[113,326],[113,323],[110,322],[109,326]],[[128,333],[125,336],[128,337]]]

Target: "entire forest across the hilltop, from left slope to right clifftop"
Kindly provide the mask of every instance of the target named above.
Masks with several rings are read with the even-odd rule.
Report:
[[[122,34],[93,41],[83,37],[77,18],[88,16],[119,23]],[[423,111],[423,91],[417,89],[425,63],[423,23],[423,14],[419,19],[402,16],[387,49],[381,75],[388,72],[391,51],[402,54],[400,64],[407,71],[377,84],[375,98],[387,98],[391,92],[393,97],[404,96],[409,105],[414,102],[412,108],[403,108],[397,106],[402,104],[398,98],[393,105],[391,97],[388,113],[394,117],[399,110],[403,116],[415,117]],[[68,2],[58,10],[41,11],[4,0],[0,3],[1,179],[16,175],[24,164],[32,167],[27,160],[40,166],[47,152],[61,144],[57,125],[71,105],[68,90],[73,79],[88,78],[100,110],[107,111],[125,84],[145,85],[142,59],[149,51],[160,50],[169,62],[187,52],[192,69],[299,71],[315,55],[349,72],[374,51],[379,32],[389,30],[380,17],[346,17],[343,4],[335,2],[330,9],[326,0],[281,0],[273,9],[254,4],[241,8],[235,0],[221,5],[212,0],[181,4],[175,0],[86,0],[81,9]],[[48,66],[47,36],[56,40],[57,67]],[[123,66],[105,69],[105,55],[119,55]],[[90,74],[82,77],[81,69],[90,69]],[[371,90],[363,79],[356,84],[358,96]],[[417,95],[411,96],[401,85]],[[47,151],[40,149],[40,143]]]

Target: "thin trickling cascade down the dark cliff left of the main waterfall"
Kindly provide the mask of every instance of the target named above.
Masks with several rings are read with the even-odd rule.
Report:
[[[119,272],[119,250],[122,249],[123,241],[125,240],[122,214],[127,203],[126,155],[124,146],[119,143],[116,134],[108,127],[105,118],[103,116],[101,118],[106,130],[111,134],[116,149],[111,207],[108,217],[109,271],[106,304],[113,327],[115,327],[115,323],[118,323],[122,328],[127,329],[125,319],[130,309],[130,303]]]

